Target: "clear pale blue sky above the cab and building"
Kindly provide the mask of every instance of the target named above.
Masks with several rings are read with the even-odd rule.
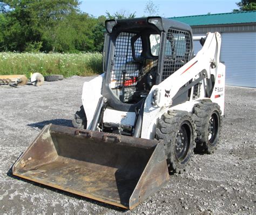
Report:
[[[240,0],[152,0],[154,5],[159,7],[159,16],[179,17],[204,15],[210,12],[226,13],[238,9],[235,2]],[[81,0],[80,9],[95,17],[106,15],[109,11],[111,15],[117,11],[136,12],[136,17],[146,15],[145,5],[148,0]]]

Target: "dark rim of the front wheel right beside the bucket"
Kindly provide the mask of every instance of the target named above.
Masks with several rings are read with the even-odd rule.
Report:
[[[175,155],[178,162],[185,163],[191,154],[191,124],[184,122],[179,127],[176,144],[175,144]]]

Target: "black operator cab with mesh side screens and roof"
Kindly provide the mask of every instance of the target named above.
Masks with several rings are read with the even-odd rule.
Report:
[[[171,19],[112,19],[106,29],[103,96],[114,109],[142,101],[192,55],[191,27]]]

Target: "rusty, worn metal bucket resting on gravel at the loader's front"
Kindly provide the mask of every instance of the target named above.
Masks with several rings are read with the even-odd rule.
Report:
[[[132,209],[169,181],[163,143],[98,131],[45,126],[13,174]]]

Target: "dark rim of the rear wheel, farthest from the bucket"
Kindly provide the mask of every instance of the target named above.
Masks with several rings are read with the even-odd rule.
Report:
[[[212,146],[217,144],[217,141],[218,141],[219,124],[220,124],[219,114],[216,112],[213,112],[208,122],[208,142]]]

